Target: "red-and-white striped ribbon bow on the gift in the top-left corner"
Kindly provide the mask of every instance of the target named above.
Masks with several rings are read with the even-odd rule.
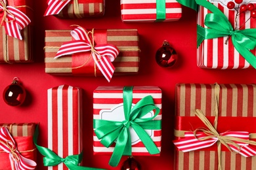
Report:
[[[30,24],[30,18],[15,7],[7,6],[6,0],[0,0],[0,12],[4,12],[1,25],[4,25],[5,33],[22,40],[20,30]]]

